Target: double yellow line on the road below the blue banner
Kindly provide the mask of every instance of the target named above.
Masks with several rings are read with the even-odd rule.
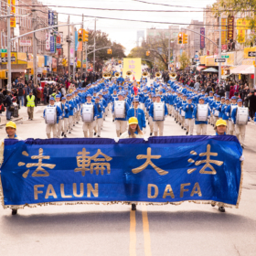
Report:
[[[130,256],[136,255],[136,211],[130,211]],[[146,206],[142,206],[143,215],[143,227],[144,227],[144,254],[145,256],[151,256],[151,242],[149,233],[149,223],[147,218]]]

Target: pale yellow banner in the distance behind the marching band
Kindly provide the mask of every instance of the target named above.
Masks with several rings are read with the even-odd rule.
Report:
[[[141,80],[142,77],[142,60],[140,58],[124,58],[123,59],[123,79],[126,78],[126,72],[132,72],[131,80]]]

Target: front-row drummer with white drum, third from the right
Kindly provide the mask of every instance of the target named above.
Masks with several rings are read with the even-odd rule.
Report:
[[[161,104],[162,110],[159,111],[159,116],[156,116],[156,104]],[[159,94],[156,95],[156,100],[154,104],[151,104],[149,115],[153,118],[154,122],[154,133],[155,136],[158,135],[159,130],[159,136],[164,135],[164,122],[165,122],[165,116],[168,115],[168,110],[164,102],[161,103],[161,96]],[[161,116],[160,116],[161,115]]]

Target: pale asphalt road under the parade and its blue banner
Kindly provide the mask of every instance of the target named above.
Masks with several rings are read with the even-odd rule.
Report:
[[[39,106],[34,121],[17,123],[24,139],[47,138]],[[22,108],[21,116],[26,116]],[[24,118],[25,119],[25,118]],[[70,138],[82,137],[82,123]],[[196,131],[195,131],[196,132]],[[209,205],[46,206],[0,209],[0,255],[256,255],[256,126],[248,124],[244,149],[244,180],[240,208],[220,213]],[[149,134],[149,129],[147,129]],[[208,126],[208,133],[213,128]],[[172,117],[165,121],[164,135],[185,135]],[[5,129],[0,129],[0,137]],[[114,137],[109,113],[101,137]]]

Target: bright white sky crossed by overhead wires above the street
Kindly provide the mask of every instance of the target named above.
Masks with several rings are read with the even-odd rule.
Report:
[[[144,22],[131,22],[121,20],[111,20],[97,18],[96,29],[107,33],[109,38],[116,43],[120,43],[125,48],[125,54],[128,55],[132,48],[136,47],[137,31],[144,30],[146,37],[146,28],[168,28],[172,24],[155,24],[155,22],[164,23],[177,23],[180,27],[187,27],[182,25],[184,23],[190,24],[191,20],[203,21],[203,12],[190,12],[202,11],[203,7],[212,5],[213,0],[142,0],[147,3],[157,3],[163,5],[149,5],[140,3],[134,0],[42,0],[45,5],[61,5],[61,6],[76,6],[79,8],[70,7],[50,7],[58,13],[70,14],[70,21],[73,23],[81,22],[81,15],[84,17],[84,28],[94,29],[94,18],[89,16],[101,17],[114,17],[132,20],[151,21],[150,23]],[[186,7],[174,7],[165,5],[179,5]],[[91,10],[82,9],[82,7],[92,8],[107,8],[107,9],[136,9],[136,10],[171,10],[171,11],[186,11],[186,12],[127,12],[127,11],[109,11],[109,10]],[[80,16],[71,16],[80,15]],[[67,22],[68,15],[59,14],[59,21]],[[80,28],[80,26],[78,26]],[[97,46],[96,46],[97,48]]]

